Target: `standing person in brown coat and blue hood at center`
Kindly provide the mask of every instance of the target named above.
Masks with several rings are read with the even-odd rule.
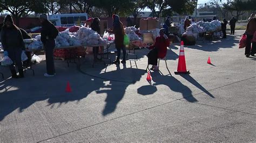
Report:
[[[113,15],[112,18],[113,18],[113,30],[107,30],[107,32],[114,34],[114,43],[116,44],[116,48],[117,48],[117,58],[113,63],[114,64],[120,63],[121,49],[123,50],[123,60],[121,62],[126,63],[125,61],[126,48],[124,46],[124,35],[125,35],[124,25],[122,22],[120,22],[118,15]]]

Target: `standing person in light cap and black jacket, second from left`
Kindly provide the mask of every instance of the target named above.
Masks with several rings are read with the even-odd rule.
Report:
[[[57,28],[48,20],[46,14],[41,14],[39,20],[42,24],[41,31],[41,41],[45,49],[46,58],[46,70],[47,73],[44,74],[45,77],[55,76],[55,66],[53,60],[53,49],[55,48],[55,38],[58,35]]]

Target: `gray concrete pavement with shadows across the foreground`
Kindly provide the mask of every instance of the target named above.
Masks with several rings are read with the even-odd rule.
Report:
[[[240,34],[186,46],[190,75],[174,75],[179,46],[172,45],[160,73],[146,81],[146,49],[132,62],[77,69],[56,61],[57,76],[0,82],[0,142],[256,141],[255,60],[238,49]],[[213,65],[208,65],[208,56]],[[112,55],[113,57],[113,55]],[[90,59],[90,57],[86,57]],[[5,77],[9,70],[1,67]],[[72,92],[66,93],[70,82]]]

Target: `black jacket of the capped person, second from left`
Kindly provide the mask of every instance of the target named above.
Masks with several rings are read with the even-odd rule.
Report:
[[[56,35],[56,32],[58,32],[57,28],[49,20],[45,20],[41,30],[41,41],[43,44],[45,44],[48,39],[55,39],[58,35]]]

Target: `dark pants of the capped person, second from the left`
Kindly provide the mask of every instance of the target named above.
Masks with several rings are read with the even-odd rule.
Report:
[[[45,58],[46,58],[46,70],[47,74],[55,74],[55,66],[53,60],[53,49],[55,48],[55,40],[49,39],[45,42]]]

